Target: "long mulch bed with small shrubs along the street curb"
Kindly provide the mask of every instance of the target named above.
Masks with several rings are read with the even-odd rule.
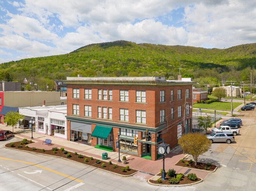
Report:
[[[29,141],[28,141],[28,144],[26,144],[26,145],[23,144],[22,147],[18,148],[17,146],[20,145],[20,142],[21,141],[14,142],[13,147],[11,147],[9,143],[6,144],[5,146],[9,147],[9,148],[19,149],[19,150],[26,150],[26,151],[35,152],[35,153],[42,153],[42,154],[52,155],[52,156],[56,156],[56,157],[63,157],[65,159],[74,160],[74,161],[81,162],[83,164],[87,164],[90,166],[93,165],[94,167],[99,167],[99,169],[104,169],[106,171],[110,171],[110,172],[114,172],[114,173],[122,174],[122,175],[127,175],[127,176],[130,174],[133,174],[135,172],[138,172],[137,170],[134,170],[134,169],[125,170],[125,172],[122,172],[121,169],[124,168],[124,166],[117,165],[117,167],[115,169],[113,169],[113,164],[109,164],[108,161],[100,161],[100,163],[97,164],[96,159],[90,160],[90,157],[85,156],[85,155],[83,155],[83,158],[78,158],[78,155],[75,155],[74,153],[71,153],[71,152],[70,152],[71,157],[67,158],[67,156],[65,156],[66,154],[64,154],[63,151],[61,151],[60,149],[58,149],[56,151],[56,153],[53,153],[52,150],[45,150],[43,152],[41,149],[32,150],[32,147],[25,148],[26,145],[31,144],[31,143],[29,143]],[[32,143],[34,143],[34,142],[32,142]],[[88,159],[88,162],[84,162],[85,158]],[[102,163],[105,163],[105,167],[101,166]]]

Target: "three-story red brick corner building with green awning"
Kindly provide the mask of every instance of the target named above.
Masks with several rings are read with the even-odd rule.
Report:
[[[193,82],[165,77],[67,77],[67,139],[157,159],[157,145],[191,132]],[[184,125],[185,124],[185,125]],[[151,140],[145,140],[146,130]],[[138,145],[133,145],[134,136]]]

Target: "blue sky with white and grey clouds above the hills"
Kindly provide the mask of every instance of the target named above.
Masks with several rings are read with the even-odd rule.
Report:
[[[254,0],[0,0],[0,63],[126,40],[228,48],[256,42]]]

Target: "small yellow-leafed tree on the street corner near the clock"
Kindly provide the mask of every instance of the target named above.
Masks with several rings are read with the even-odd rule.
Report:
[[[205,153],[209,148],[211,148],[211,141],[201,133],[188,133],[183,134],[179,140],[178,144],[183,150],[192,155],[195,160],[195,165],[197,165],[197,160],[199,155]]]

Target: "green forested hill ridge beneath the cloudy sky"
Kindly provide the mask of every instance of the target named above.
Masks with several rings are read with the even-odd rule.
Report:
[[[115,41],[83,46],[69,54],[0,64],[0,80],[54,79],[59,73],[84,77],[161,75],[177,79],[179,68],[181,74],[188,72],[196,78],[212,76],[223,80],[224,76],[241,78],[241,72],[247,67],[254,69],[255,65],[256,43],[207,49]]]

